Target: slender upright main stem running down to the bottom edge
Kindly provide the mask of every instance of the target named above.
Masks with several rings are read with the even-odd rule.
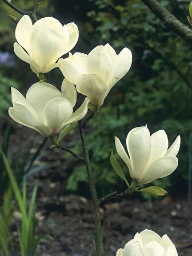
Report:
[[[100,203],[99,203],[99,200],[98,200],[97,190],[96,190],[95,182],[94,182],[94,178],[93,178],[93,171],[91,169],[89,151],[88,151],[88,148],[87,148],[85,133],[83,131],[82,121],[78,121],[78,125],[79,125],[79,132],[80,132],[80,136],[81,136],[85,166],[86,166],[87,175],[88,175],[88,178],[89,178],[89,187],[90,187],[90,192],[91,192],[91,198],[92,198],[93,206],[94,206],[96,256],[102,256],[101,217],[100,217],[100,212],[99,212]]]

